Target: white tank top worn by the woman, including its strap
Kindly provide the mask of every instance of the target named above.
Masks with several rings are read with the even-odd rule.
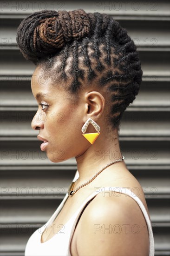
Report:
[[[78,178],[78,171],[76,171],[73,181],[75,181],[77,178]],[[119,193],[123,193],[131,196],[137,202],[137,204],[139,205],[140,209],[144,214],[144,217],[148,226],[149,242],[150,242],[149,256],[154,256],[155,248],[154,248],[154,237],[153,237],[151,222],[142,201],[137,197],[137,195],[135,195],[129,189],[124,189],[120,187],[104,187],[100,189],[101,190],[99,193],[101,193],[101,191],[118,191]],[[96,193],[96,195],[97,194],[98,193]],[[63,228],[60,229],[58,233],[53,235],[51,239],[47,240],[44,243],[41,243],[42,233],[45,231],[46,227],[48,227],[49,224],[54,221],[56,216],[58,216],[60,210],[63,208],[65,201],[69,196],[66,193],[63,201],[60,203],[59,207],[53,213],[51,218],[46,222],[45,225],[35,230],[32,236],[30,236],[30,238],[28,239],[26,243],[25,256],[71,256],[70,243],[72,240],[72,235],[76,227],[77,221],[79,220],[78,218],[81,216],[83,210],[85,209],[85,206],[88,203],[90,203],[90,201],[96,195],[94,195],[94,192],[91,195],[89,195],[87,199],[78,208],[78,210],[75,212],[75,214],[69,219],[69,221],[66,222],[65,225],[63,225]]]

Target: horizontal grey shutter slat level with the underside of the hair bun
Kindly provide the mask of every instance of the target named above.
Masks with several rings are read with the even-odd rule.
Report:
[[[165,51],[141,51],[139,52],[142,69],[145,76],[169,76],[169,54]],[[26,61],[19,52],[13,50],[3,50],[0,53],[2,68],[1,75],[31,76],[35,65],[31,61]]]

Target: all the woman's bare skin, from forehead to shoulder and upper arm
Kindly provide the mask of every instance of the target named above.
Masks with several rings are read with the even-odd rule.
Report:
[[[32,128],[38,129],[39,135],[48,141],[45,150],[50,161],[63,162],[75,157],[79,174],[79,179],[74,186],[76,189],[92,178],[100,168],[121,158],[118,134],[116,132],[112,134],[116,138],[114,140],[113,137],[106,136],[106,122],[103,119],[103,115],[106,115],[105,93],[99,92],[95,87],[90,90],[86,89],[81,91],[78,104],[72,104],[69,101],[68,93],[63,89],[64,83],[60,83],[60,87],[57,88],[52,86],[50,79],[46,83],[40,82],[42,76],[41,68],[36,67],[31,82],[33,96],[36,97],[38,93],[46,93],[48,97],[37,100],[39,104],[46,106],[39,105],[32,121]],[[81,132],[81,128],[88,118],[92,118],[100,126],[100,135],[94,144],[87,141]],[[96,130],[90,124],[86,133],[93,132]],[[108,152],[111,155],[107,155]],[[69,196],[61,214],[59,213],[52,224],[56,227],[61,223],[65,224],[85,199],[94,192],[95,187],[105,186],[126,187],[130,190],[137,187],[138,197],[147,209],[141,185],[122,161],[107,167],[92,182],[79,189],[75,195]],[[114,196],[115,194],[110,196],[106,193],[103,196],[102,193],[99,193],[86,207],[72,236],[70,247],[72,256],[149,255],[149,236],[146,232],[147,229],[143,228],[147,225],[137,202],[130,196],[124,196],[124,194]],[[110,234],[107,231],[104,234],[100,230],[95,234],[94,226],[96,224],[101,227],[105,224],[106,228],[110,224],[127,224],[130,227],[137,224],[140,226],[140,232],[125,234],[122,231],[118,235],[114,232]],[[61,227],[56,228],[56,232],[60,229]],[[46,234],[42,235],[41,243],[51,239],[53,235],[49,227]]]

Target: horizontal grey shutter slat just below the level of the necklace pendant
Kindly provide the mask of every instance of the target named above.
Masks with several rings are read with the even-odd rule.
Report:
[[[29,200],[23,197],[21,200],[8,199],[1,201],[1,224],[17,224],[17,223],[46,223],[58,208],[62,197],[53,199]],[[147,197],[145,195],[147,206],[150,213],[151,222],[156,226],[157,223],[170,222],[170,206],[169,199],[159,199],[157,197]],[[44,205],[48,207],[44,208]],[[43,214],[42,214],[43,213]],[[159,226],[160,226],[159,225]]]

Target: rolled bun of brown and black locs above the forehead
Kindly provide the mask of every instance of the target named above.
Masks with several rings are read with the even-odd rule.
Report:
[[[22,20],[16,40],[24,57],[33,61],[90,32],[89,16],[83,9],[68,12],[46,10],[34,12]]]

